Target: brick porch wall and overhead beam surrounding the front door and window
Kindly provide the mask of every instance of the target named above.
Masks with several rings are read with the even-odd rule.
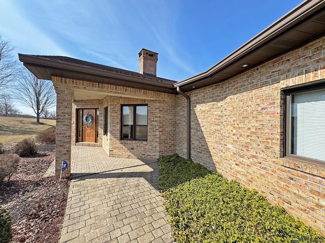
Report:
[[[120,158],[157,158],[163,154],[175,153],[175,119],[176,95],[159,93],[148,90],[104,85],[83,80],[53,77],[53,84],[61,87],[58,91],[69,91],[72,102],[69,113],[69,141],[67,154],[71,151],[71,144],[76,141],[76,109],[98,108],[99,144],[111,157]],[[106,93],[102,100],[72,100],[73,90],[85,90]],[[134,97],[134,98],[130,98]],[[140,98],[136,98],[140,97]],[[60,102],[58,102],[60,103]],[[148,104],[148,140],[126,141],[120,140],[121,104]],[[108,135],[103,136],[104,108],[108,106]],[[60,112],[60,111],[58,111]],[[66,131],[68,128],[64,128]]]

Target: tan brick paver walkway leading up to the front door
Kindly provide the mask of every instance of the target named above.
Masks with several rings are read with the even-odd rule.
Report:
[[[70,184],[60,242],[170,242],[157,163],[108,158],[97,147],[72,149],[78,177]],[[90,174],[100,171],[109,172]]]

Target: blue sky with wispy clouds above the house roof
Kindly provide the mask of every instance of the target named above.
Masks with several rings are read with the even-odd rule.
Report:
[[[181,81],[232,53],[301,0],[0,0],[0,34],[17,53],[60,55]],[[31,112],[29,112],[31,113]]]

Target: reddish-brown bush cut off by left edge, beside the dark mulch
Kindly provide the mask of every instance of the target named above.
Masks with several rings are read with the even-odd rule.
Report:
[[[0,154],[0,183],[5,178],[9,181],[10,177],[17,172],[19,160],[17,154]]]

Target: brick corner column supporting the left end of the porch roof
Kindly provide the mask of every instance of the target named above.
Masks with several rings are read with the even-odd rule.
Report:
[[[52,77],[52,81],[56,92],[55,177],[60,177],[62,160],[68,163],[62,177],[70,177],[73,90],[64,84],[63,78]]]

